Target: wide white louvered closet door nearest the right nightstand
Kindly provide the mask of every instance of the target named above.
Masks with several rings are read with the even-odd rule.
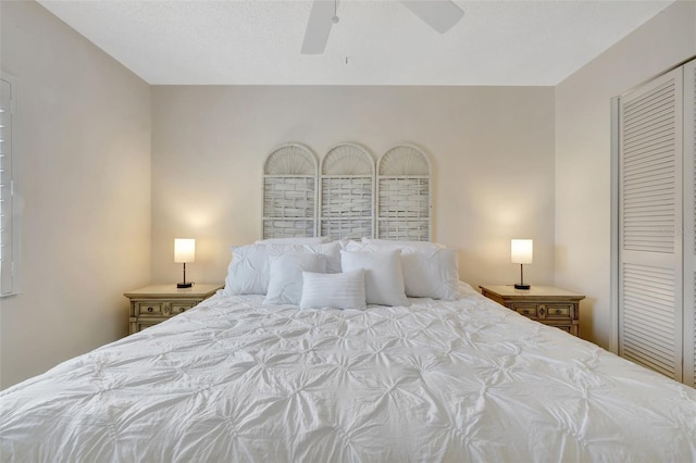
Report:
[[[682,70],[620,99],[619,353],[682,380]]]

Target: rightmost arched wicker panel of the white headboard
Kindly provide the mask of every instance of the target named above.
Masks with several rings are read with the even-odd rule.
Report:
[[[385,152],[377,165],[377,230],[381,239],[432,239],[431,164],[413,145]]]

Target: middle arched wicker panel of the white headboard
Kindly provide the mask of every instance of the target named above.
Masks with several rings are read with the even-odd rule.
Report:
[[[374,236],[374,158],[358,143],[340,143],[322,159],[320,235]]]

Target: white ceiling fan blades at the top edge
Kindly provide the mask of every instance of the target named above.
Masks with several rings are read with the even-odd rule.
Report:
[[[400,0],[403,7],[428,26],[445,34],[464,12],[451,0]],[[326,48],[331,27],[338,23],[338,0],[314,0],[307,22],[302,54],[321,54]]]

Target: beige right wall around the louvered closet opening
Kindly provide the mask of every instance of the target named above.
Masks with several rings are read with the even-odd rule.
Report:
[[[610,99],[696,54],[696,2],[676,2],[556,87],[556,283],[588,296],[583,337],[608,348]]]

